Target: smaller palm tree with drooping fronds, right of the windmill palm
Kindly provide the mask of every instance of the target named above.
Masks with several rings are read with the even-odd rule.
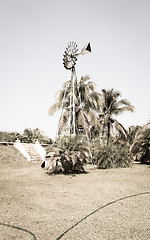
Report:
[[[113,88],[110,90],[102,89],[103,107],[102,113],[99,114],[100,122],[103,125],[103,135],[106,133],[107,145],[109,144],[110,136],[115,129],[127,137],[127,131],[121,123],[119,123],[114,116],[117,116],[124,111],[134,111],[133,105],[127,99],[118,98],[121,97],[119,91],[115,91]]]

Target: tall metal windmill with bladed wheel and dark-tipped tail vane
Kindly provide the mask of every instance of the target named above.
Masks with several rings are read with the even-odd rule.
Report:
[[[91,52],[91,45],[88,43],[85,45],[81,52],[78,52],[78,45],[76,42],[70,42],[64,52],[63,64],[67,70],[71,72],[71,93],[72,99],[70,99],[70,119],[69,120],[69,133],[76,135],[76,121],[75,121],[75,81],[77,81],[75,65],[80,55],[85,55]],[[65,96],[64,96],[65,97]],[[63,109],[63,103],[62,103]]]

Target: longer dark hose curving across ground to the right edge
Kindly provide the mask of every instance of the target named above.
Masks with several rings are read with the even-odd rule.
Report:
[[[134,194],[134,195],[130,195],[130,196],[127,196],[127,197],[122,197],[122,198],[119,198],[119,199],[116,199],[112,202],[109,202],[99,208],[97,208],[96,210],[94,210],[93,212],[89,213],[88,215],[86,215],[84,218],[82,218],[81,220],[79,220],[77,223],[75,223],[73,226],[71,226],[70,228],[68,228],[64,233],[62,233],[58,238],[56,238],[56,240],[59,240],[61,239],[67,232],[69,232],[71,229],[73,229],[74,227],[76,227],[78,224],[80,224],[82,221],[84,221],[85,219],[87,219],[88,217],[90,217],[91,215],[93,215],[94,213],[98,212],[100,209],[102,208],[105,208],[111,204],[114,204],[116,202],[119,202],[119,201],[122,201],[124,199],[127,199],[127,198],[132,198],[132,197],[136,197],[136,196],[140,196],[140,195],[144,195],[144,194],[150,194],[150,192],[143,192],[143,193],[137,193],[137,194]]]

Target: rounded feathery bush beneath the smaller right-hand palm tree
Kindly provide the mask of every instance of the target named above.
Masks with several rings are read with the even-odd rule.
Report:
[[[95,160],[98,169],[125,168],[132,166],[133,157],[128,147],[110,144],[99,148]]]

